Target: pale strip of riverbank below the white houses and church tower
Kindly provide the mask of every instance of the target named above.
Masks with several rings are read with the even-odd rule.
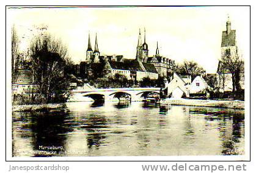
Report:
[[[236,108],[244,109],[244,101],[213,101],[199,99],[164,99],[160,101],[161,105],[186,105],[197,107],[218,107],[218,108]]]

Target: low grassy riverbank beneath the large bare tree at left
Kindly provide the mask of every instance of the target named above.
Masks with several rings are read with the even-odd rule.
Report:
[[[13,105],[12,111],[40,111],[54,108],[64,108],[64,104],[40,104],[40,105]]]

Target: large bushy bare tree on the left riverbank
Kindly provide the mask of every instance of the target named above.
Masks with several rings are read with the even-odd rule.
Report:
[[[31,62],[34,82],[39,85],[42,98],[51,102],[64,96],[69,84],[64,69],[70,65],[66,46],[49,34],[39,35],[31,43]]]

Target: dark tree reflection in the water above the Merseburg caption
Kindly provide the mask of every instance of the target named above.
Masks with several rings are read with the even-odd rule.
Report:
[[[34,157],[51,157],[64,150],[65,134],[70,130],[65,126],[68,111],[43,111],[25,113],[18,124],[21,138],[31,138],[34,152],[29,152]],[[18,115],[14,115],[18,119]],[[13,121],[15,124],[15,121]],[[28,132],[28,133],[27,133]]]

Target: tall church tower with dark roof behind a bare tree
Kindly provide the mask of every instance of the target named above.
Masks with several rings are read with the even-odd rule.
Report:
[[[230,58],[234,58],[238,54],[238,48],[236,46],[236,30],[231,29],[231,22],[228,19],[226,23],[226,30],[222,31],[222,41],[221,41],[221,57],[227,55]],[[220,92],[232,91],[232,74],[225,69],[222,62],[219,61],[218,70],[216,74],[217,85]],[[240,88],[244,90],[244,63],[240,71]]]

